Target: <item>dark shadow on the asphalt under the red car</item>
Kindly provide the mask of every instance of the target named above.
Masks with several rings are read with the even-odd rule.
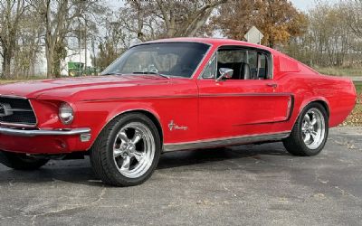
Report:
[[[224,162],[225,160],[247,164],[261,158],[262,155],[289,154],[277,143],[179,151],[161,155],[156,173],[157,170],[213,164],[214,162]],[[15,183],[56,183],[59,181],[71,184],[105,186],[93,174],[88,157],[83,160],[50,161],[43,168],[32,172],[17,171],[1,165],[0,172],[0,186],[12,186]]]

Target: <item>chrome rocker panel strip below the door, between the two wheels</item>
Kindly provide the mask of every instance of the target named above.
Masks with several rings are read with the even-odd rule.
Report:
[[[187,149],[198,149],[198,148],[207,148],[214,146],[235,146],[235,145],[244,145],[257,143],[262,141],[278,141],[282,138],[289,137],[291,131],[284,131],[276,134],[262,134],[262,135],[252,135],[252,136],[241,136],[241,137],[225,137],[222,139],[207,139],[199,140],[195,142],[186,142],[186,143],[171,143],[164,144],[164,152],[180,151]]]

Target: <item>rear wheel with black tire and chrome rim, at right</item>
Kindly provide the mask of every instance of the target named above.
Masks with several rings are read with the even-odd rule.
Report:
[[[326,145],[329,135],[329,116],[319,103],[310,103],[300,113],[290,137],[283,145],[291,155],[318,155]]]

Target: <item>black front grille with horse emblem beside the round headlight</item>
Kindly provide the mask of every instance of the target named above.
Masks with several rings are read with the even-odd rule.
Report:
[[[34,126],[36,118],[29,100],[0,97],[0,123]]]

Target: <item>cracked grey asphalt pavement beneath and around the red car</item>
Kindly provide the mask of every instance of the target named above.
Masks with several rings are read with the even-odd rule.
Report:
[[[136,187],[97,181],[87,160],[20,173],[0,166],[1,225],[357,225],[362,128],[331,131],[316,157],[281,143],[163,155]]]

